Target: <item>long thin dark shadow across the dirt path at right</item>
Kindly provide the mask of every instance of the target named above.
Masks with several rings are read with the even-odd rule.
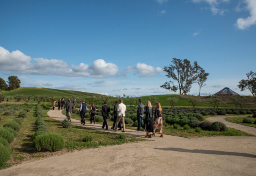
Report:
[[[227,155],[227,156],[243,156],[243,157],[249,157],[249,158],[256,158],[256,155],[254,154],[248,154],[248,153],[240,153],[240,152],[225,152],[225,151],[218,151],[218,150],[190,150],[190,149],[184,149],[184,148],[154,148],[157,150],[166,150],[166,151],[175,151],[175,152],[185,152],[185,153],[201,153],[201,154],[213,154],[213,155]]]

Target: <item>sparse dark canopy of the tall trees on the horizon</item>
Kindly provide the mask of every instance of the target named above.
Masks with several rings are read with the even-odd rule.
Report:
[[[192,84],[198,82],[200,74],[205,74],[205,72],[200,72],[200,70],[203,69],[197,64],[196,61],[193,65],[191,65],[190,61],[187,59],[181,60],[173,58],[172,63],[173,64],[170,64],[169,66],[165,66],[164,71],[167,73],[166,76],[168,78],[172,78],[173,81],[170,80],[169,82],[165,82],[160,87],[172,92],[179,90],[180,95],[186,95],[188,92],[190,92]]]

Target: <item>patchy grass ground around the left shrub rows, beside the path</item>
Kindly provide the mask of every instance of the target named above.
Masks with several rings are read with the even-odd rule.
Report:
[[[3,116],[4,112],[2,112],[0,114],[2,118],[2,121],[0,121],[0,128],[2,128],[4,123],[7,121],[18,118],[17,115],[20,111],[17,111],[13,116]],[[134,138],[132,136],[127,136],[126,139],[119,139],[118,135],[116,134],[110,134],[107,132],[101,132],[98,130],[92,130],[79,126],[62,128],[61,122],[50,118],[47,115],[47,112],[48,110],[43,110],[42,119],[45,121],[49,132],[58,133],[63,136],[66,144],[65,148],[57,152],[38,152],[36,150],[32,142],[32,135],[36,130],[36,125],[34,124],[36,120],[34,116],[35,108],[32,108],[32,111],[28,112],[28,116],[26,118],[20,118],[22,120],[21,129],[18,132],[18,136],[15,138],[14,142],[10,144],[12,150],[11,160],[9,160],[3,166],[0,166],[0,169],[15,164],[20,164],[25,161],[31,162],[41,158],[65,154],[74,150],[142,141],[141,139]],[[92,136],[92,142],[82,141],[86,135]]]

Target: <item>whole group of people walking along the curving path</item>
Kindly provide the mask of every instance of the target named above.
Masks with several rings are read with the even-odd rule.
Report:
[[[135,132],[140,132],[140,128],[142,127],[143,130],[146,132],[145,137],[151,138],[152,135],[155,136],[155,131],[156,129],[158,129],[160,130],[160,137],[163,137],[162,127],[163,127],[164,117],[162,115],[161,104],[156,103],[156,108],[154,111],[151,105],[151,102],[149,100],[146,102],[146,106],[142,104],[142,99],[139,99],[138,102],[139,102],[139,105],[137,108],[138,127]],[[60,108],[61,109],[66,108],[66,112],[67,112],[66,116],[67,116],[67,119],[70,120],[70,122],[71,122],[70,115],[71,115],[72,109],[76,108],[76,103],[77,103],[76,99],[74,99],[73,103],[71,103],[70,99],[68,100],[68,102],[65,103],[64,98],[62,98],[62,100],[60,99],[58,102],[58,110],[60,110]],[[53,101],[52,110],[54,110],[55,104],[56,104],[56,100]],[[85,103],[85,100],[82,100],[79,110],[80,110],[81,124],[83,125],[86,124],[84,117],[87,110],[90,110],[89,112],[90,123],[92,124],[92,121],[93,121],[95,124],[95,115],[96,115],[97,108],[94,105],[94,103],[92,103],[90,106],[90,109],[88,109],[87,104]],[[102,128],[104,129],[106,126],[106,130],[108,130],[107,118],[109,117],[109,112],[110,112],[110,106],[108,106],[107,102],[105,101],[104,105],[101,108],[101,114],[103,117]],[[125,122],[124,122],[125,112],[126,112],[126,105],[123,103],[123,100],[120,99],[119,104],[118,104],[118,101],[116,101],[114,105],[114,110],[113,110],[114,123],[113,123],[113,126],[111,127],[112,130],[115,130],[115,131],[122,130],[122,132],[125,132]],[[154,114],[154,118],[153,118],[153,114]],[[122,127],[121,121],[122,121],[123,127]]]

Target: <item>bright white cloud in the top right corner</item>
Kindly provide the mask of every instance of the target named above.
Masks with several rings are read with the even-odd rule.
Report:
[[[244,30],[256,24],[256,0],[245,0],[245,2],[246,9],[249,10],[250,16],[247,18],[238,18],[236,20],[236,26],[240,30]]]

